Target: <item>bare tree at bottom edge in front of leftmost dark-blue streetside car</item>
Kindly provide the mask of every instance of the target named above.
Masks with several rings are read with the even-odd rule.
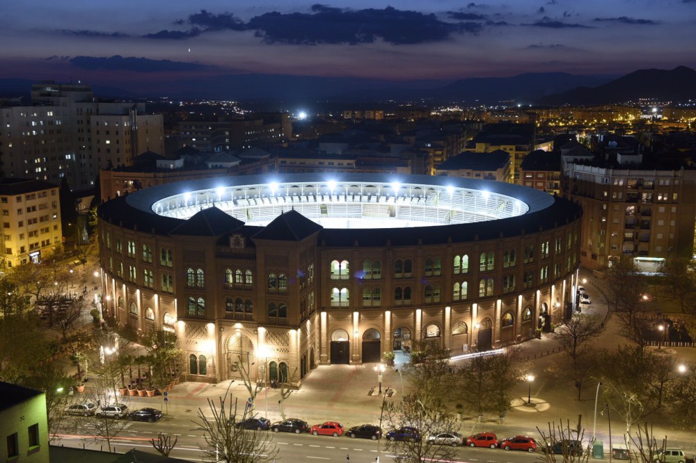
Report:
[[[206,413],[209,412],[209,415]],[[205,446],[200,446],[206,461],[225,463],[270,463],[278,455],[272,434],[264,431],[245,430],[235,425],[237,405],[226,409],[225,401],[219,403],[208,399],[208,407],[198,409],[198,420],[193,421],[197,430],[203,431]],[[248,409],[242,421],[248,416]]]

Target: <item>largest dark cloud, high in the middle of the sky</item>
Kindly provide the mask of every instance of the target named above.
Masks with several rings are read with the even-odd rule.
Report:
[[[454,33],[478,33],[482,29],[475,22],[443,22],[434,14],[390,6],[383,10],[340,10],[315,5],[313,12],[264,13],[246,26],[266,43],[287,44],[360,44],[380,38],[391,44],[418,44],[442,42]]]

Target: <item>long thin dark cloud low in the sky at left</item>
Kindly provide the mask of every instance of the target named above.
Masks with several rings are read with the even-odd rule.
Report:
[[[212,66],[198,63],[185,63],[183,61],[151,60],[150,58],[136,58],[119,55],[111,57],[101,56],[75,56],[69,59],[70,64],[81,69],[132,71],[132,72],[187,72],[212,69]]]

